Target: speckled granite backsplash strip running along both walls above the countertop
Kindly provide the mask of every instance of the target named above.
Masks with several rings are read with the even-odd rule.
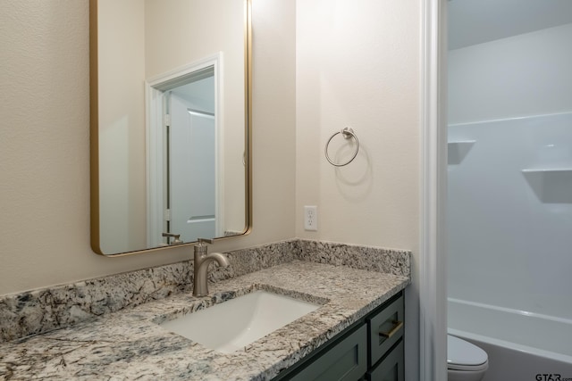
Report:
[[[222,269],[211,265],[211,282],[240,277],[295,259],[405,277],[409,277],[411,266],[411,253],[407,251],[299,239],[225,254],[231,266]],[[189,248],[189,258],[191,256],[192,248]],[[161,300],[171,294],[189,293],[192,281],[193,263],[182,261],[71,285],[0,296],[0,343],[70,327],[109,312]]]

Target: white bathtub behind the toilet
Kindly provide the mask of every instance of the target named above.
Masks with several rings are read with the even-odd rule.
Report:
[[[572,320],[448,299],[448,332],[484,349],[484,381],[572,381]]]

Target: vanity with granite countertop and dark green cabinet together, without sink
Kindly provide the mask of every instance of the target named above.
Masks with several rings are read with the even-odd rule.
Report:
[[[249,253],[248,259],[253,255]],[[373,255],[369,253],[368,258]],[[238,271],[241,265],[237,256],[229,254],[229,258],[230,269]],[[265,258],[259,256],[257,263],[261,261]],[[393,266],[396,262],[391,260]],[[153,277],[159,270],[151,269],[146,274]],[[110,285],[113,289],[122,288],[117,279],[114,282]],[[157,282],[147,278],[137,292],[145,293]],[[387,372],[389,379],[400,380],[405,331],[400,322],[403,290],[409,282],[408,276],[289,260],[211,283],[210,294],[204,297],[175,293],[71,327],[0,344],[0,378],[331,380],[330,371],[345,374],[341,379],[347,380],[385,379],[381,375]],[[89,286],[89,282],[85,284]],[[96,299],[77,290],[74,293],[80,298]],[[257,290],[319,306],[229,353],[214,351],[160,326],[166,320]],[[52,298],[56,294],[50,292]],[[105,292],[98,297],[111,298],[112,294]],[[0,301],[0,307],[10,302]],[[56,307],[53,304],[50,308]],[[80,313],[73,307],[71,311]],[[227,317],[229,322],[234,318]]]

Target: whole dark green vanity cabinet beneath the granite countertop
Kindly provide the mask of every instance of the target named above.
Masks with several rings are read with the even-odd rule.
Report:
[[[400,292],[274,380],[402,381],[403,319]]]

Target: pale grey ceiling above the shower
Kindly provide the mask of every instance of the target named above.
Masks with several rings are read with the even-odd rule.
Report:
[[[572,22],[572,0],[450,0],[449,49]]]

